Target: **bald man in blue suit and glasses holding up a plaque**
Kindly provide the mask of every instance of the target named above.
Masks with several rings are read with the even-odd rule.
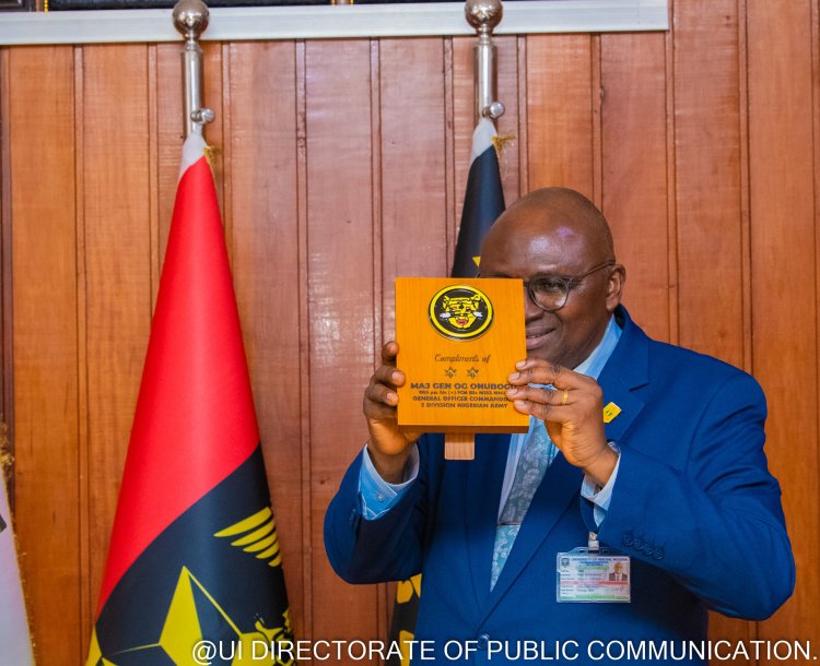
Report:
[[[395,389],[411,378],[387,343],[364,395],[368,442],[326,518],[337,573],[422,571],[415,639],[440,663],[517,661],[516,647],[543,641],[569,645],[552,658],[595,664],[610,642],[703,641],[707,609],[774,613],[795,573],[757,382],[646,337],[620,305],[625,270],[607,222],[577,192],[538,190],[507,209],[481,274],[526,284],[528,357],[507,395],[530,432],[479,436],[475,461],[445,461],[441,436],[396,427]],[[583,603],[606,600],[595,585],[578,592],[584,568],[626,558],[629,596]],[[667,658],[703,663],[652,662]]]

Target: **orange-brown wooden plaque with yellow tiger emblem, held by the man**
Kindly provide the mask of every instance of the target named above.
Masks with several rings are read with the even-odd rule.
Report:
[[[506,397],[527,357],[520,280],[396,278],[399,428],[422,432],[526,432]]]

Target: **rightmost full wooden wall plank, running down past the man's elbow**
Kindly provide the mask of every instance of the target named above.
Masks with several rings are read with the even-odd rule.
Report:
[[[766,391],[768,454],[783,486],[797,591],[759,635],[820,640],[817,490],[817,211],[808,2],[749,0],[749,186],[753,369]],[[817,497],[816,495],[813,496]]]

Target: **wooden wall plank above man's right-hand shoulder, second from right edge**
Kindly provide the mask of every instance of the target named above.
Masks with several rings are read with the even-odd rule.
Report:
[[[746,109],[738,3],[677,3],[675,12],[670,203],[677,212],[679,342],[743,367],[746,349],[751,352],[751,312],[745,302],[749,221],[741,188]],[[710,627],[714,638],[749,640],[757,633],[753,623],[717,614]]]

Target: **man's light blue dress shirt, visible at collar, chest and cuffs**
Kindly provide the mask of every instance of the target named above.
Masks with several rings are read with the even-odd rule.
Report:
[[[577,367],[574,368],[575,372],[586,374],[593,379],[598,379],[604,366],[607,365],[609,357],[618,344],[621,337],[621,328],[616,323],[614,317],[610,318],[607,330],[604,333],[598,346],[593,349],[591,354],[582,361]],[[518,467],[518,459],[524,451],[524,447],[527,439],[532,433],[532,426],[536,417],[531,416],[529,421],[529,431],[526,433],[518,433],[511,436],[509,439],[509,452],[507,453],[507,464],[504,471],[504,481],[501,487],[501,501],[499,503],[499,515],[506,504],[507,498],[509,497],[509,490],[513,487],[513,480],[515,479],[515,471]],[[612,498],[612,489],[614,488],[616,477],[618,476],[618,467],[620,465],[620,456],[616,468],[612,472],[612,476],[609,477],[609,481],[602,488],[596,486],[595,481],[588,476],[584,476],[584,480],[581,486],[581,495],[586,499],[590,500],[595,504],[595,522],[600,525],[606,516],[607,509]],[[362,455],[362,467],[359,474],[359,495],[362,499],[362,510],[365,520],[374,520],[382,515],[385,511],[388,511],[396,502],[401,498],[402,492],[408,488],[410,484],[415,480],[419,474],[419,450],[418,447],[413,445],[410,452],[410,459],[408,460],[407,467],[405,469],[405,480],[401,484],[388,484],[376,472],[371,461],[367,447],[364,447],[364,454]]]

